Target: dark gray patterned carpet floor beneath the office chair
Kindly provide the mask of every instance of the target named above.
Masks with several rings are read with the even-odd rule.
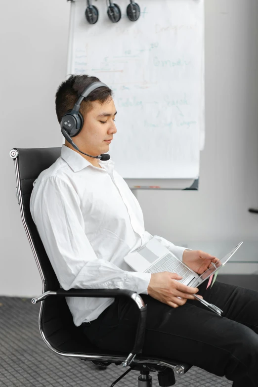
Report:
[[[111,364],[99,370],[91,361],[65,358],[44,344],[39,327],[40,303],[31,299],[0,297],[0,386],[8,387],[109,387],[125,372]],[[157,373],[151,372],[153,387],[159,387]],[[116,387],[137,387],[138,371],[130,371]],[[175,376],[176,387],[231,387],[217,377],[192,367]]]

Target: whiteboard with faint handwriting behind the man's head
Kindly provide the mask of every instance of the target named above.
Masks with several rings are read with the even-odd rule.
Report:
[[[117,133],[109,151],[125,179],[198,179],[204,146],[204,0],[139,0],[136,22],[112,23],[107,2],[71,3],[68,68],[114,91]],[[165,181],[164,180],[164,181]],[[190,180],[188,180],[190,181]],[[167,184],[168,185],[168,184]]]

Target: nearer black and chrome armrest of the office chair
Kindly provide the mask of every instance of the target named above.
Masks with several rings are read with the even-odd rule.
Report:
[[[124,367],[131,364],[137,353],[142,352],[144,343],[145,328],[147,321],[147,304],[145,305],[142,298],[134,291],[128,289],[58,289],[56,292],[48,291],[43,293],[40,297],[32,299],[32,303],[43,301],[48,296],[56,297],[119,297],[126,296],[132,299],[139,308],[139,320],[135,341],[131,352],[127,359],[122,363]]]

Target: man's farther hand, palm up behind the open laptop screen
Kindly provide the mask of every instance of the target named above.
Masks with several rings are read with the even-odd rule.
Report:
[[[197,274],[203,274],[205,270],[213,268],[213,263],[215,263],[216,267],[220,266],[218,258],[201,250],[184,250],[182,260]]]

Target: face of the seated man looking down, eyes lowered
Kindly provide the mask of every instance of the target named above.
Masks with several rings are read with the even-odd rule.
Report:
[[[78,134],[78,146],[81,145],[85,153],[100,155],[109,151],[109,140],[117,132],[115,115],[117,113],[113,98],[108,99],[102,105],[92,101],[92,110],[86,114],[84,126]],[[79,146],[80,148],[80,146]]]

